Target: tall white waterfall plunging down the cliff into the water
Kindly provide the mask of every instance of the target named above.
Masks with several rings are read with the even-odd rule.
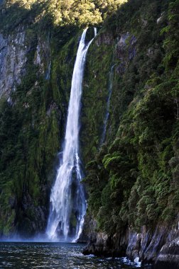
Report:
[[[82,171],[79,156],[79,116],[82,96],[82,79],[87,50],[92,40],[85,42],[87,29],[82,33],[72,74],[70,103],[63,156],[50,195],[48,238],[60,241],[76,241],[82,232],[87,203],[80,183]],[[96,35],[94,28],[94,36]]]

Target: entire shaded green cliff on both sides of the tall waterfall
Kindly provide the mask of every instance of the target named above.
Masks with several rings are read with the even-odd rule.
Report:
[[[44,10],[42,4],[1,8],[1,236],[45,231],[65,130],[81,30],[55,25]],[[129,1],[98,25],[89,47],[80,117],[85,253],[139,257],[156,266],[172,255],[168,242],[178,236],[177,18],[178,1]]]

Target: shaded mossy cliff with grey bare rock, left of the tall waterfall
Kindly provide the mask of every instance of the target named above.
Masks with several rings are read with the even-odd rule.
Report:
[[[65,127],[74,40],[64,53],[61,50],[77,32],[72,26],[55,28],[53,18],[42,15],[45,8],[45,4],[29,9],[15,3],[1,13],[0,233],[4,236],[45,231],[53,167]],[[60,65],[64,61],[68,71]]]

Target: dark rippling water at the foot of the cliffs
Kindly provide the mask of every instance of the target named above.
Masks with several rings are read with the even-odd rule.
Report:
[[[0,268],[116,269],[139,268],[126,258],[82,255],[82,244],[0,242]],[[150,268],[150,267],[142,267]]]

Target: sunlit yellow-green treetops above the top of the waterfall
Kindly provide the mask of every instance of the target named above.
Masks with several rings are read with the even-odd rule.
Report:
[[[13,29],[19,23],[41,21],[43,27],[50,25],[98,25],[116,11],[126,0],[5,0],[6,16],[0,25]],[[29,16],[30,15],[30,16]]]

